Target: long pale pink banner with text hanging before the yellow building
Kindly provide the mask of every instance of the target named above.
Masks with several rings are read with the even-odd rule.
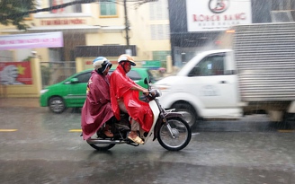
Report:
[[[61,31],[0,36],[0,50],[15,48],[62,48]]]

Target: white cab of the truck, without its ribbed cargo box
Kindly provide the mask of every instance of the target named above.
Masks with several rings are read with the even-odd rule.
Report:
[[[239,94],[233,50],[205,51],[193,57],[174,76],[155,83],[163,92],[165,109],[186,111],[192,126],[196,118],[239,118]]]

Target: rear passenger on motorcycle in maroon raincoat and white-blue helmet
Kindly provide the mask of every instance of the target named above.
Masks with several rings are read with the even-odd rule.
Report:
[[[86,140],[104,126],[105,136],[112,137],[107,125],[113,116],[110,98],[110,74],[112,63],[105,57],[96,57],[93,62],[94,71],[87,84],[86,100],[81,113],[83,139]]]

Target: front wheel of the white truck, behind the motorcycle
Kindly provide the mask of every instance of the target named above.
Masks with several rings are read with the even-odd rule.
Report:
[[[184,120],[189,124],[190,127],[193,127],[193,125],[196,124],[197,120],[197,113],[193,109],[192,105],[188,103],[175,103],[172,106],[172,109],[175,109],[175,111],[182,111],[184,112]]]

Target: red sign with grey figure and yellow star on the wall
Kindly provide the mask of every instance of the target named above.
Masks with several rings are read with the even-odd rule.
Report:
[[[0,82],[3,85],[32,84],[30,62],[0,62]]]

